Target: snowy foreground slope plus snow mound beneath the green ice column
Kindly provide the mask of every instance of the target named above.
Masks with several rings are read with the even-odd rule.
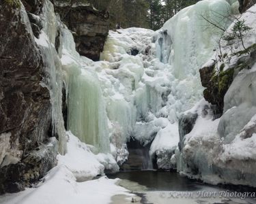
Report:
[[[57,166],[33,188],[14,194],[4,194],[0,197],[0,203],[102,204],[111,203],[111,198],[117,194],[124,195],[128,201],[131,201],[134,194],[117,186],[118,179],[110,180],[104,176],[104,165],[100,162],[104,160],[102,158],[111,160],[111,156],[95,155],[89,148],[77,137],[68,133],[68,153],[65,156],[58,156]],[[97,175],[101,177],[90,180]]]

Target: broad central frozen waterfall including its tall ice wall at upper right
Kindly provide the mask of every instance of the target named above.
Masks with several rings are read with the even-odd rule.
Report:
[[[110,32],[101,56],[104,62],[95,69],[109,101],[111,131],[122,130],[119,137],[113,134],[115,143],[134,137],[146,145],[154,139],[150,153],[158,154],[159,165],[169,168],[162,164],[170,163],[164,155],[173,154],[177,147],[177,120],[201,99],[198,70],[222,35],[203,17],[228,26],[231,22],[221,18],[231,14],[233,7],[225,0],[199,1],[155,33],[136,28]],[[132,49],[139,54],[131,56]]]

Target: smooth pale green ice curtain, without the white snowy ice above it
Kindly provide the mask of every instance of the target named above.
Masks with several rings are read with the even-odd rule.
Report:
[[[79,75],[70,75],[68,86],[68,129],[81,141],[107,152],[109,134],[97,76],[82,69]]]

